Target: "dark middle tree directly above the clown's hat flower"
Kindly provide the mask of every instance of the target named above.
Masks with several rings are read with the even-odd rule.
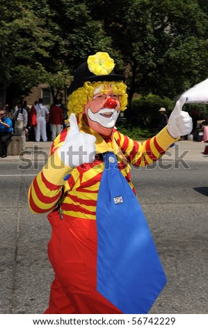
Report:
[[[112,52],[111,36],[106,36],[99,20],[93,20],[88,1],[49,0],[52,20],[58,24],[63,40],[63,57],[70,74],[97,51]]]

